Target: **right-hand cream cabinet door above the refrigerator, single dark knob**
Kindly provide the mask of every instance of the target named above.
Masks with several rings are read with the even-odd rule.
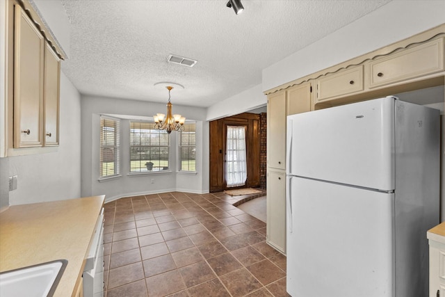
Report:
[[[369,88],[423,77],[444,69],[444,38],[439,38],[369,63]]]

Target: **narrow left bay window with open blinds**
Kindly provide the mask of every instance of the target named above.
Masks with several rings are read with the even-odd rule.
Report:
[[[100,117],[99,178],[120,174],[120,120]]]

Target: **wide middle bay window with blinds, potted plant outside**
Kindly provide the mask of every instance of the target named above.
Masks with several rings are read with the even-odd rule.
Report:
[[[170,135],[154,122],[130,122],[130,172],[170,170]]]

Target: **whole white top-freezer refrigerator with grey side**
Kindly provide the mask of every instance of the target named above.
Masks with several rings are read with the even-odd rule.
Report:
[[[287,117],[287,292],[428,296],[439,111],[396,97]]]

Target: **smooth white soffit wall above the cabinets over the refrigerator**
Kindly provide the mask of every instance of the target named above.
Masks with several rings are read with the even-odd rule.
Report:
[[[391,1],[263,70],[262,90],[421,33],[445,22],[445,1]]]

